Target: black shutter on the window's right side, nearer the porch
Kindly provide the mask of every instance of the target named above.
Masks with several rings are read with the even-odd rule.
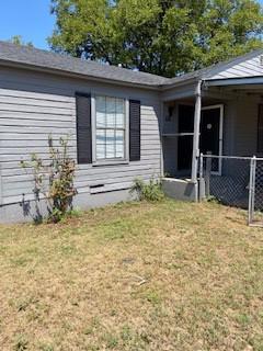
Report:
[[[129,160],[140,160],[140,101],[129,100]]]

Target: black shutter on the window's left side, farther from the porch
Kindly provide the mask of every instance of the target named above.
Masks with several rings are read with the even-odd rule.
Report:
[[[78,163],[92,162],[91,95],[76,93]]]

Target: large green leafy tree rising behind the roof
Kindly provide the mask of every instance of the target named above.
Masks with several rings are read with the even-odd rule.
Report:
[[[173,77],[263,47],[255,0],[52,0],[52,48]]]

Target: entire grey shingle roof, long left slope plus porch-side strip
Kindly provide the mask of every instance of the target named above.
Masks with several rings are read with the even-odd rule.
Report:
[[[199,79],[207,80],[210,77],[213,78],[213,76],[217,72],[262,54],[263,49],[253,50],[247,55],[242,55],[228,61],[219,63],[190,73],[174,78],[164,78],[151,73],[134,71],[126,68],[99,64],[95,61],[0,41],[0,64],[22,65],[23,67],[47,69],[61,73],[73,73],[87,78],[108,80],[112,82],[165,89],[173,88],[180,83],[187,83],[188,81],[195,81]]]

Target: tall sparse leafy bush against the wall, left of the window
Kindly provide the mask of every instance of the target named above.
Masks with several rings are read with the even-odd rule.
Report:
[[[33,169],[33,193],[37,201],[41,194],[44,195],[48,219],[54,223],[59,222],[71,210],[72,199],[77,194],[73,186],[76,163],[68,156],[68,137],[60,138],[59,147],[55,148],[52,136],[48,136],[47,162],[36,154],[32,154],[30,162],[21,162],[23,168]]]

